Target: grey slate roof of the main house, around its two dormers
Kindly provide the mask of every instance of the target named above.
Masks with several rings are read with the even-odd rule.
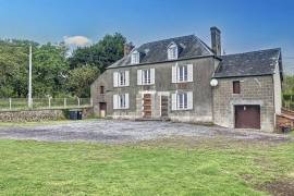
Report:
[[[175,37],[154,42],[147,42],[134,49],[140,52],[140,64],[157,63],[168,61],[168,46],[175,42],[179,47],[179,57],[181,59],[189,59],[205,56],[213,56],[211,49],[195,35]],[[131,54],[117,61],[109,68],[122,68],[131,64]],[[135,64],[137,65],[137,64]]]

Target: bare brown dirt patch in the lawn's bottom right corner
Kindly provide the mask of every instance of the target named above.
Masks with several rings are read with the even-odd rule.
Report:
[[[264,185],[265,191],[277,196],[294,195],[294,179],[277,180]]]

